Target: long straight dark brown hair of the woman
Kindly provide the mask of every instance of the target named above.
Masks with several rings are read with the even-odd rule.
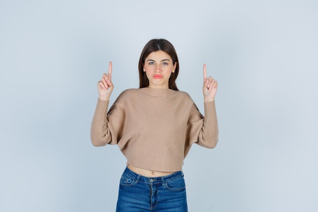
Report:
[[[154,51],[162,50],[169,54],[172,59],[172,64],[174,65],[177,62],[176,69],[169,78],[169,88],[173,90],[179,90],[176,85],[176,79],[179,74],[179,60],[176,50],[174,49],[173,45],[167,41],[166,39],[152,39],[148,41],[148,43],[143,48],[139,63],[138,63],[138,70],[139,70],[139,88],[147,87],[149,85],[149,80],[147,78],[146,72],[143,71],[143,67],[145,65],[146,57]]]

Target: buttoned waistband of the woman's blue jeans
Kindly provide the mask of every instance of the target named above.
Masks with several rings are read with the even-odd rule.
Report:
[[[133,170],[131,170],[128,165],[126,166],[126,168],[123,171],[124,174],[133,177],[136,182],[138,183],[138,181],[142,181],[143,183],[148,183],[148,184],[157,184],[157,183],[162,183],[164,184],[165,182],[169,182],[170,180],[176,179],[178,177],[184,176],[183,171],[176,171],[172,174],[168,174],[165,176],[157,176],[157,177],[147,177],[141,174],[138,174],[136,172],[134,172]]]

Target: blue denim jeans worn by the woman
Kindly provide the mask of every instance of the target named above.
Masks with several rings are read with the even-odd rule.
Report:
[[[146,177],[124,169],[120,180],[116,212],[187,212],[182,171],[166,176]]]

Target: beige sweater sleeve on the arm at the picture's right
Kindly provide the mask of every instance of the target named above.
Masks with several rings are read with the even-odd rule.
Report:
[[[204,116],[193,102],[187,122],[186,138],[188,145],[196,143],[206,148],[214,148],[218,142],[218,124],[215,100],[204,102]]]

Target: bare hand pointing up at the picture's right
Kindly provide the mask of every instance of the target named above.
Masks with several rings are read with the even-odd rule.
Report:
[[[211,76],[207,78],[206,65],[203,64],[203,96],[204,102],[214,101],[217,90],[217,81]]]

